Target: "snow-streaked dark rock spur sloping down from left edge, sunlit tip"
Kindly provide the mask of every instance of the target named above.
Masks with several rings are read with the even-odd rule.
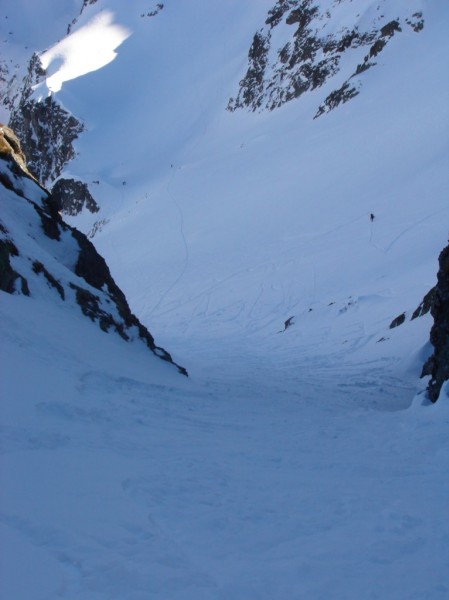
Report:
[[[0,126],[0,190],[1,290],[72,304],[103,331],[141,340],[187,374],[131,312],[92,243],[52,207],[51,194],[28,171],[18,138],[5,126]]]

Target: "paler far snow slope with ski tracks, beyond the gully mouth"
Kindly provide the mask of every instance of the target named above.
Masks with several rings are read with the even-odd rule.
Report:
[[[346,26],[363,21],[343,4]],[[108,8],[132,33],[115,61],[57,95],[87,125],[69,174],[99,182],[100,213],[73,223],[101,230],[95,242],[139,314],[178,352],[212,344],[220,361],[238,347],[279,367],[288,357],[312,381],[336,361],[345,382],[374,361],[415,387],[430,323],[388,326],[433,285],[447,237],[448,8],[414,3],[422,31],[393,36],[359,75],[361,93],[319,119],[332,79],[272,113],[229,113],[271,5],[168,3],[142,18],[99,2],[83,13]],[[390,3],[385,19],[394,14]]]

